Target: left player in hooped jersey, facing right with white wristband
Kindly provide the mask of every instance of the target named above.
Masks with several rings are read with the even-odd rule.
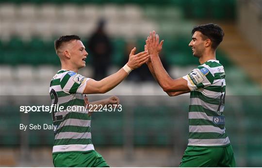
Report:
[[[118,105],[115,96],[88,102],[85,94],[105,93],[117,86],[129,73],[148,61],[146,51],[135,53],[131,50],[127,64],[115,74],[99,81],[78,74],[85,67],[88,53],[81,38],[76,35],[61,36],[55,41],[55,51],[61,61],[61,70],[50,82],[51,103],[63,107],[62,111],[52,110],[55,125],[53,164],[55,167],[108,167],[97,153],[91,141],[91,113],[89,105]],[[85,107],[85,110],[69,111],[68,107]],[[61,109],[60,109],[61,110]]]

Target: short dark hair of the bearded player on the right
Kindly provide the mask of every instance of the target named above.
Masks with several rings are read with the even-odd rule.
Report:
[[[217,46],[223,41],[223,37],[225,35],[222,28],[216,24],[209,23],[205,25],[195,26],[192,30],[192,35],[196,32],[200,31],[204,36],[202,39],[210,39],[212,41],[211,47],[215,50]]]

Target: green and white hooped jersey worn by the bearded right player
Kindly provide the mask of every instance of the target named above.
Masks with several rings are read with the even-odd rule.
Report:
[[[209,60],[183,78],[191,90],[188,145],[229,144],[223,114],[226,93],[223,65],[217,60]]]

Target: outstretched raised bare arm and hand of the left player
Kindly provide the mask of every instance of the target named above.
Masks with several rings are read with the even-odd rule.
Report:
[[[129,61],[127,63],[127,65],[132,70],[140,67],[149,58],[147,51],[143,51],[143,52],[140,52],[134,55],[135,50],[136,50],[135,47],[131,50],[131,53],[129,55]],[[123,68],[121,68],[115,74],[111,76],[107,76],[103,78],[102,80],[96,81],[94,79],[90,79],[87,81],[83,94],[95,94],[95,93],[108,92],[112,90],[113,88],[115,88],[115,86],[117,86],[119,83],[121,83],[125,79],[125,77],[127,77],[128,75],[129,73],[127,73]]]

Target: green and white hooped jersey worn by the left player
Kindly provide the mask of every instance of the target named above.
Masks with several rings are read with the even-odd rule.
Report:
[[[51,104],[64,107],[61,111],[52,112],[53,124],[56,125],[53,153],[94,150],[91,141],[91,117],[88,110],[83,108],[85,95],[82,94],[89,79],[73,71],[60,70],[51,80]],[[82,109],[73,110],[72,107]]]

